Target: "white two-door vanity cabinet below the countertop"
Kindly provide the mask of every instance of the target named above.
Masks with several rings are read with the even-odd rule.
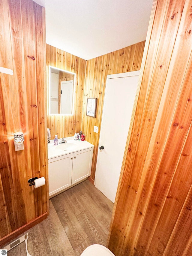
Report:
[[[91,175],[93,147],[48,159],[49,197]]]

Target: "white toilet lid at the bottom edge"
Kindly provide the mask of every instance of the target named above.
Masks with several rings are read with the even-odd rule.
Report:
[[[103,245],[90,245],[85,251],[82,252],[81,256],[115,256],[108,248]]]

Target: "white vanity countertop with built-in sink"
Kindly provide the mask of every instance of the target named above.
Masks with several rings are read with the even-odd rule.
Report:
[[[61,139],[58,140],[59,142],[61,141]],[[53,144],[54,140],[50,140],[50,143],[47,145],[48,159],[94,147],[94,145],[88,141],[74,140],[74,137],[68,137],[65,138],[65,140],[67,141],[66,143],[58,144],[56,146]]]

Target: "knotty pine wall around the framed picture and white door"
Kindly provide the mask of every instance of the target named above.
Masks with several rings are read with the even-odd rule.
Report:
[[[99,134],[107,75],[140,70],[145,41],[125,47],[87,61],[85,78],[85,98],[83,101],[82,130],[85,140],[95,145],[90,180],[95,180]],[[86,116],[87,98],[97,98],[96,118]],[[94,125],[99,132],[93,132]],[[120,131],[117,131],[120,132]],[[113,137],[113,131],[109,131]]]

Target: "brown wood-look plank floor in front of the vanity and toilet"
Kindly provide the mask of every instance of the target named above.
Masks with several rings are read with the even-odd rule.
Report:
[[[49,200],[49,216],[27,232],[33,256],[79,256],[91,244],[106,245],[113,203],[88,180]],[[27,256],[25,242],[8,252]]]

